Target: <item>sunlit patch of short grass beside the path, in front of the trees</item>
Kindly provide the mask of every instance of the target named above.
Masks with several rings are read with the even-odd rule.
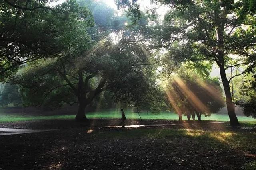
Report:
[[[126,129],[123,131],[98,132],[98,137],[107,138],[138,138],[147,137],[150,139],[193,139],[210,147],[223,147],[220,144],[229,146],[231,149],[240,150],[245,153],[256,153],[256,132],[252,131],[210,131],[198,129],[170,129],[170,128],[144,128]]]

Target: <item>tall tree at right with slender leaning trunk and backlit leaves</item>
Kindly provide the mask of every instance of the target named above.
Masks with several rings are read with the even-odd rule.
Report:
[[[230,124],[239,125],[229,83],[232,78],[250,71],[256,63],[253,50],[256,19],[248,12],[249,0],[154,2],[169,5],[171,9],[164,18],[164,24],[157,26],[158,36],[153,38],[160,42],[160,47],[168,49],[168,57],[172,61],[210,61],[219,66]],[[236,64],[228,65],[234,56]],[[228,79],[226,70],[234,66],[249,67]]]

